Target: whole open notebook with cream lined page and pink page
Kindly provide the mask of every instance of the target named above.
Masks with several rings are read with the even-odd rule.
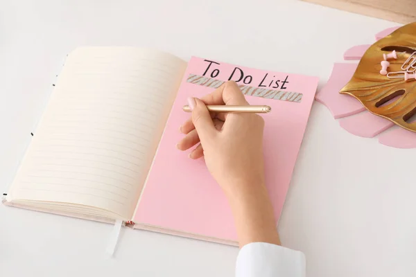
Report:
[[[229,79],[250,104],[272,107],[264,154],[278,220],[318,78],[130,47],[68,55],[4,204],[235,244],[230,208],[203,159],[175,148],[187,97]]]

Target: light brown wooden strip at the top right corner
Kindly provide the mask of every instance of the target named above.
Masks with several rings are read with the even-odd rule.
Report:
[[[416,21],[416,16],[402,15],[396,12],[390,12],[388,10],[381,10],[365,6],[360,3],[352,3],[346,0],[301,0],[304,2],[315,3],[330,8],[336,8],[338,10],[345,10],[347,12],[354,12],[361,15],[367,15],[369,17],[376,17],[379,19],[385,19],[401,24],[408,24]]]

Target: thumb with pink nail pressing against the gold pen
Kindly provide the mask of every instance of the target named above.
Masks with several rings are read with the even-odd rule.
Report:
[[[188,105],[192,110],[192,123],[201,141],[208,139],[216,131],[211,114],[205,106],[205,103],[198,98],[188,98]]]

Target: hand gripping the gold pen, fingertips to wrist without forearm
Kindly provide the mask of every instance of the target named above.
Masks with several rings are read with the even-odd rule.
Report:
[[[205,156],[211,175],[225,193],[238,193],[237,186],[264,184],[263,127],[257,114],[209,114],[205,105],[249,105],[235,82],[226,82],[201,100],[189,99],[192,118],[181,132],[177,148],[188,150],[191,159]]]

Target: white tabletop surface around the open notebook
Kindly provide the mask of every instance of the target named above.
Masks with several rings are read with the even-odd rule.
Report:
[[[197,2],[1,1],[1,191],[76,46],[151,46],[322,85],[347,48],[397,25],[295,0]],[[279,224],[309,277],[416,275],[415,154],[347,133],[315,103]],[[123,229],[107,258],[109,224],[4,206],[0,220],[0,276],[234,275],[234,247]]]

